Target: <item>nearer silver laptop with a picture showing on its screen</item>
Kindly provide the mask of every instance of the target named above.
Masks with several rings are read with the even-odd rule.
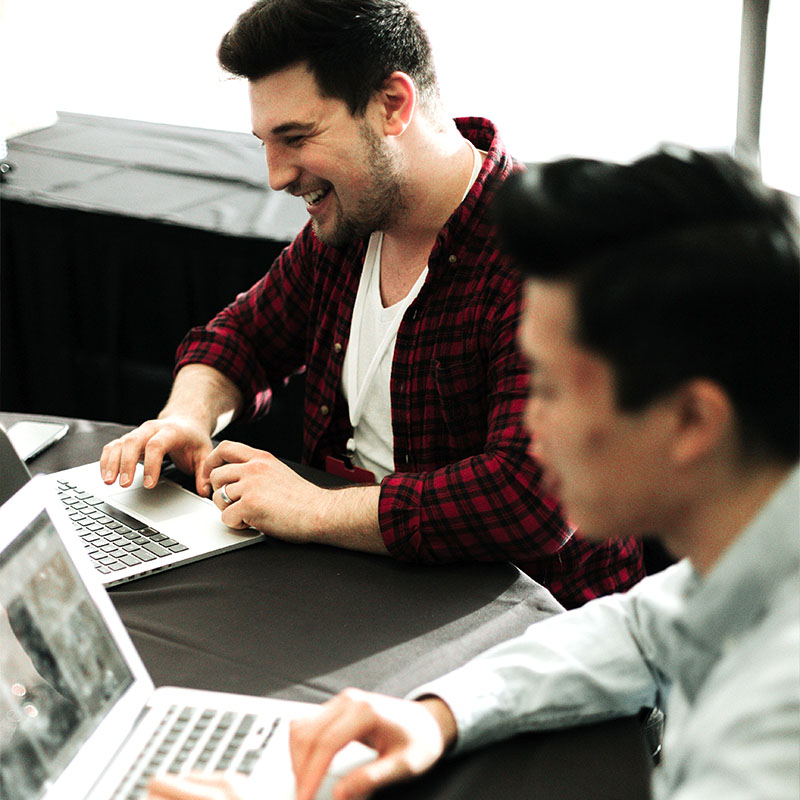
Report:
[[[154,689],[46,477],[0,507],[3,800],[136,800],[155,774],[220,770],[288,800],[288,720],[308,708]],[[373,757],[348,745],[318,797]]]

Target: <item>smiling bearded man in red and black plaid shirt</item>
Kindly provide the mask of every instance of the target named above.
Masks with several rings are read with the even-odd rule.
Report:
[[[635,583],[638,545],[575,534],[528,453],[521,279],[487,214],[521,165],[487,120],[445,117],[415,15],[400,0],[259,0],[219,56],[249,81],[271,187],[303,197],[310,220],[190,331],[159,418],[104,450],[106,481],[129,485],[144,454],[155,485],[169,454],[234,528],[512,561],[568,607]],[[323,489],[269,453],[213,449],[302,367],[304,461],[362,485]]]

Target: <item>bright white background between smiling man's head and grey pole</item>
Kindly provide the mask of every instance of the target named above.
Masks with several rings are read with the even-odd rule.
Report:
[[[418,0],[424,17],[436,0]],[[705,16],[687,25],[690,9]],[[663,140],[726,147],[736,121],[738,14],[730,0],[464,0],[431,15],[446,96],[491,116],[526,160],[627,158]],[[480,8],[496,9],[483,28]],[[493,52],[480,52],[480,31]],[[458,47],[448,54],[443,43]],[[713,57],[710,55],[713,53]]]

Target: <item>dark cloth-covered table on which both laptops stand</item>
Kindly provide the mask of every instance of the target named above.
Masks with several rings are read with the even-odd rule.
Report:
[[[0,413],[0,422],[29,416]],[[32,471],[95,460],[129,429],[68,422]],[[558,610],[509,564],[415,566],[271,539],[109,593],[156,685],[305,701],[349,685],[405,694]],[[519,736],[377,797],[632,800],[649,797],[649,772],[637,721],[621,719]]]

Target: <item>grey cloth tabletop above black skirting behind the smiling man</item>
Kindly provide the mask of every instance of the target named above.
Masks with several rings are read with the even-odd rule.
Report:
[[[291,241],[303,202],[267,185],[246,133],[59,112],[8,142],[8,200],[157,220],[231,236]]]

